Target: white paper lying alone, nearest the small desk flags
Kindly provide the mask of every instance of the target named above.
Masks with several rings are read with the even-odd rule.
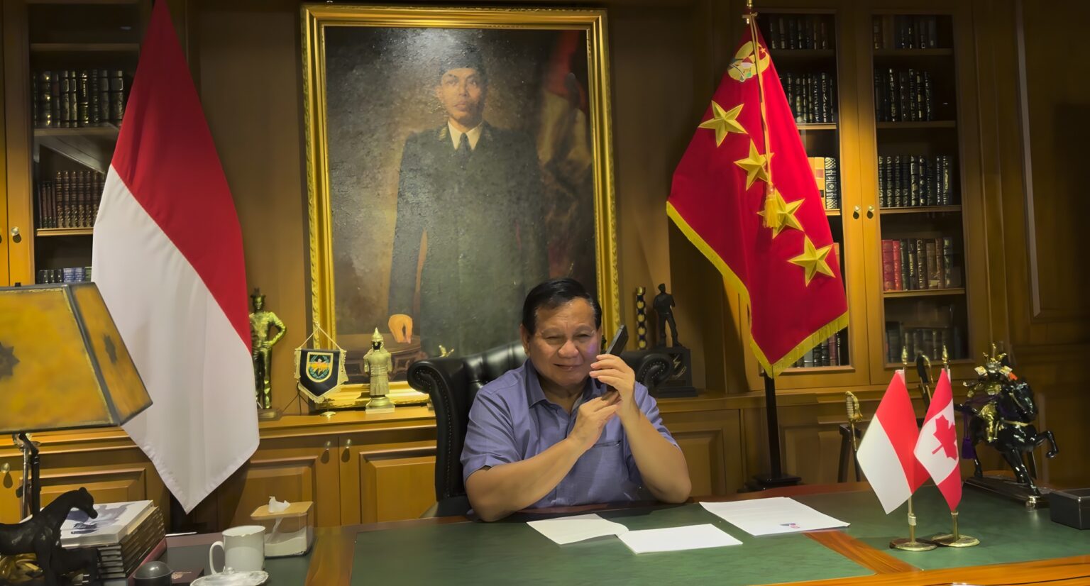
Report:
[[[848,523],[786,497],[700,504],[710,513],[750,535],[812,532],[848,526]]]

